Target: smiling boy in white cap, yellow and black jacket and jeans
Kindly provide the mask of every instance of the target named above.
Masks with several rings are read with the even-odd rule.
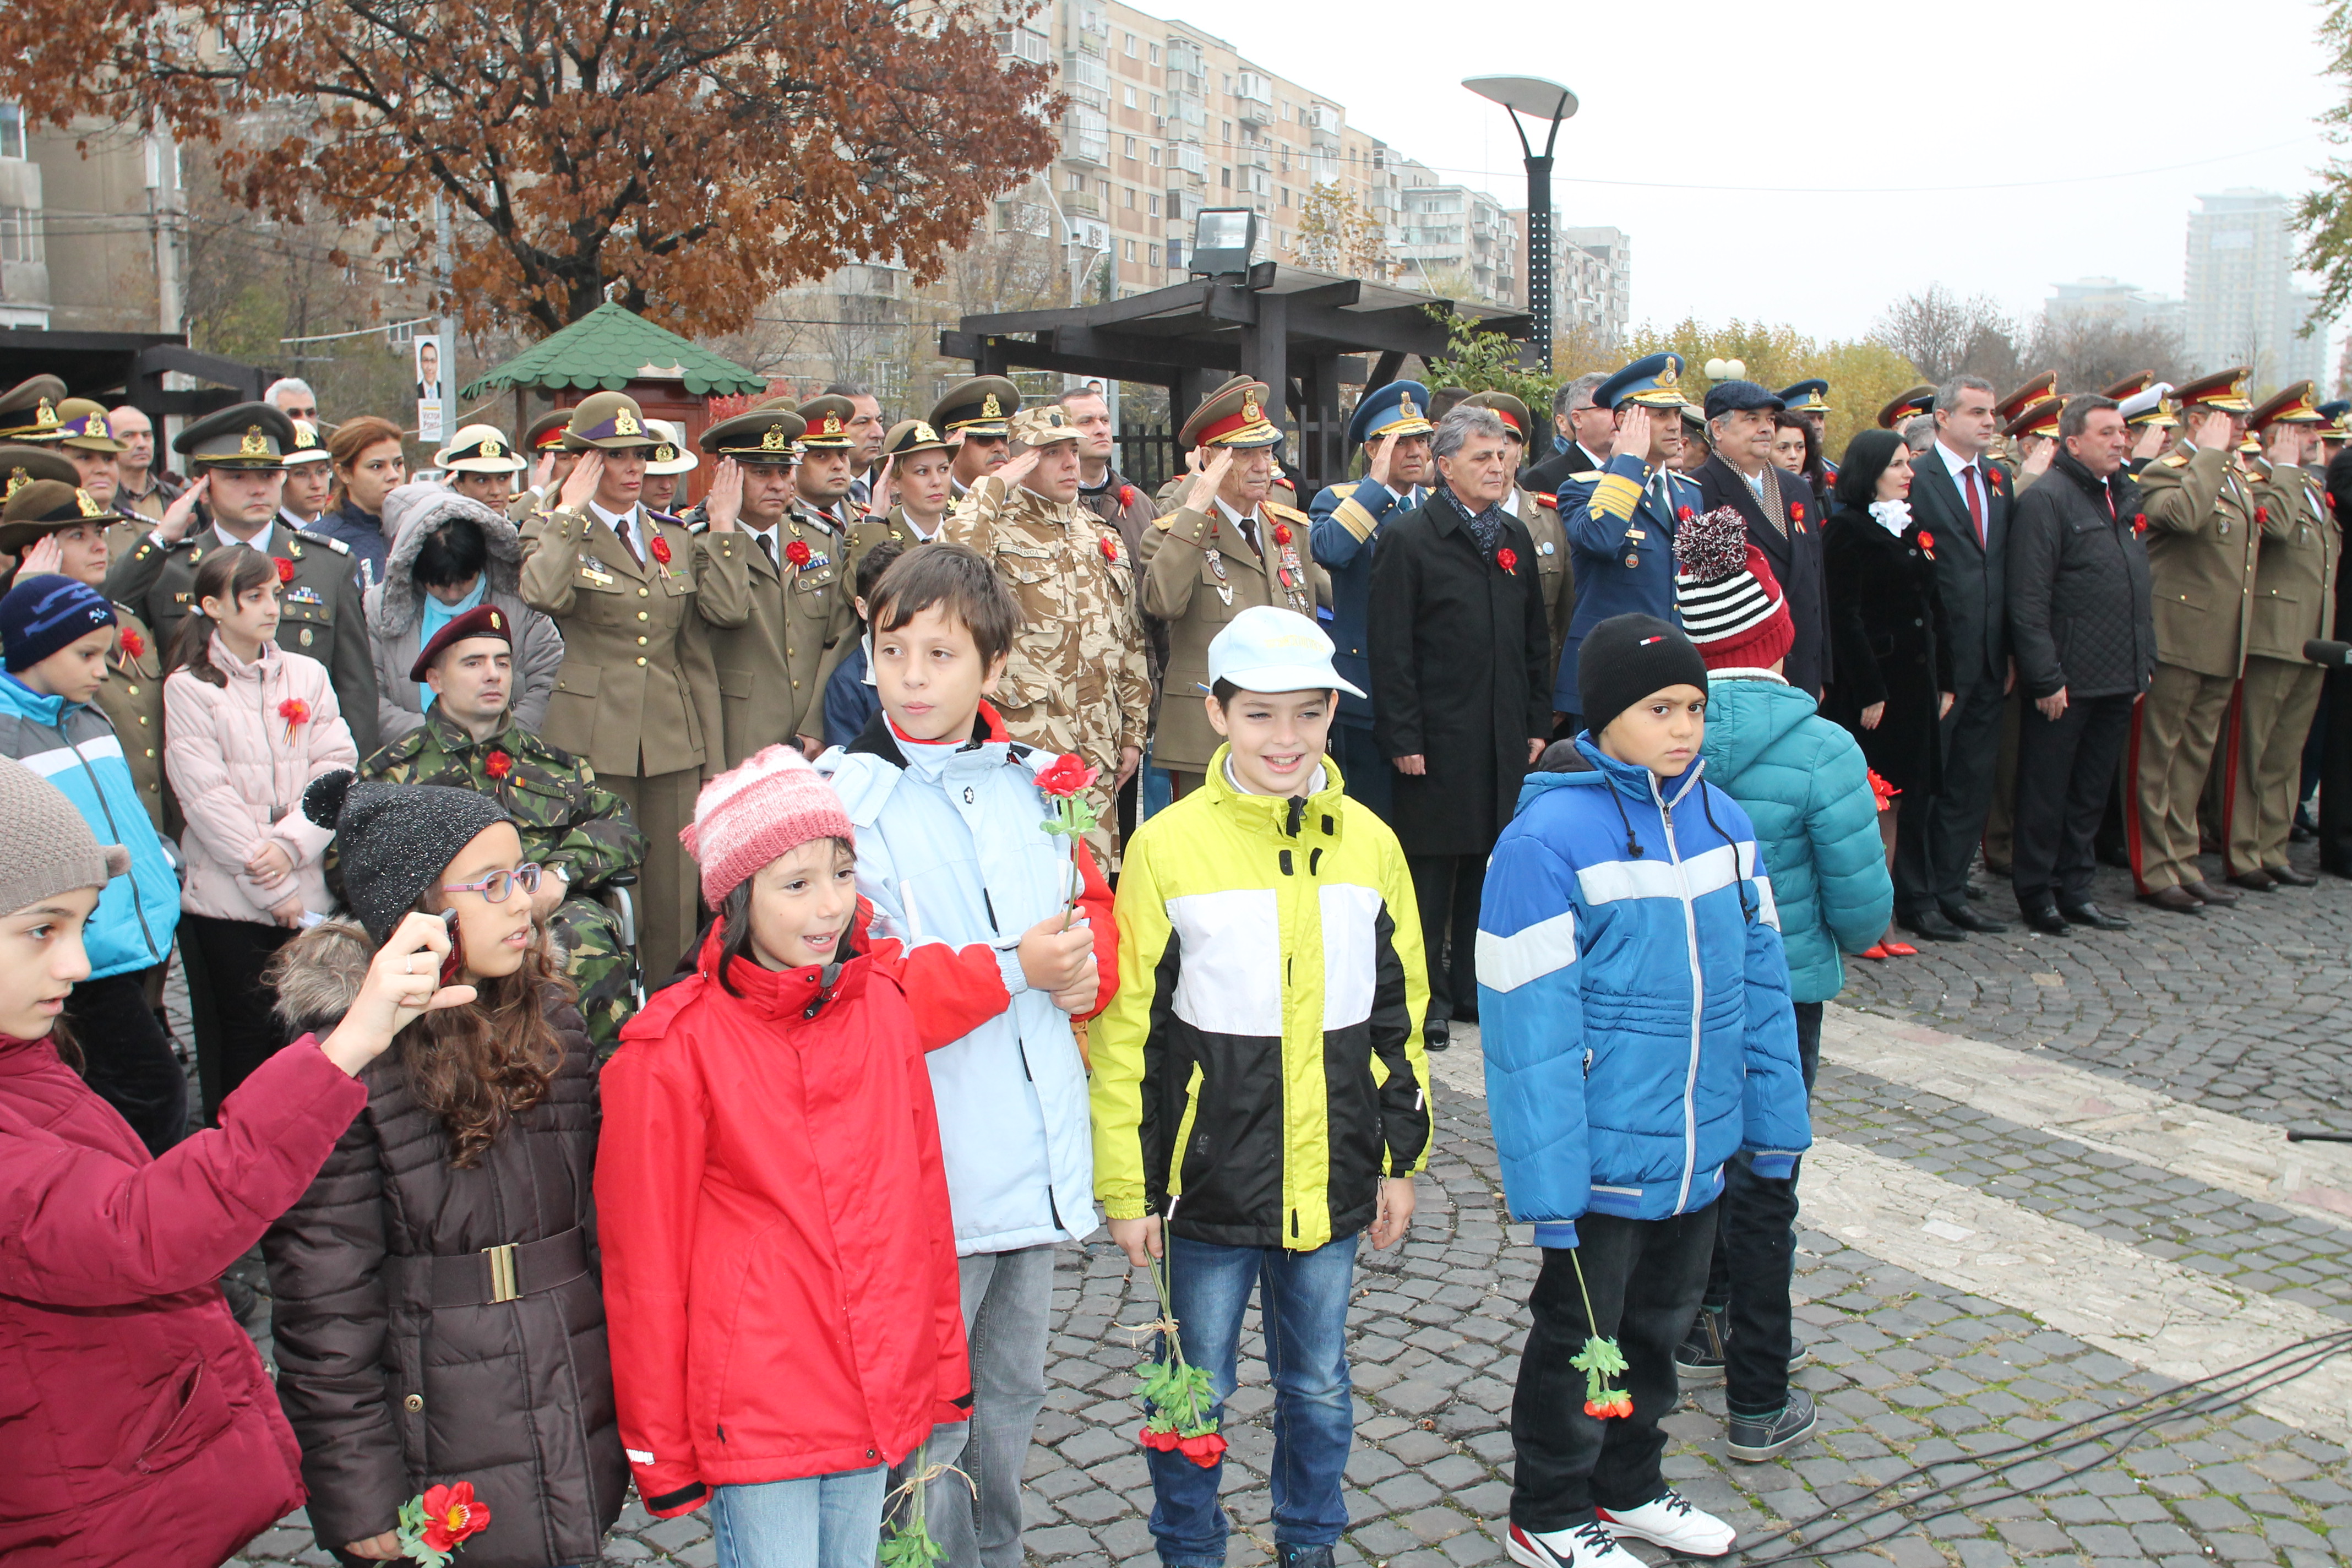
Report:
[[[1221,1441],[1197,1427],[1232,1394],[1263,1279],[1275,1549],[1282,1568],[1329,1568],[1348,1528],[1357,1239],[1404,1237],[1430,1152],[1421,917],[1397,835],[1324,757],[1338,693],[1362,691],[1322,628],[1254,604],[1209,644],[1209,682],[1225,743],[1120,872],[1131,983],[1094,1025],[1094,1190],[1136,1267],[1167,1260],[1183,1356],[1211,1380],[1207,1410],[1169,1413],[1183,1446],[1145,1455],[1160,1559],[1225,1561]]]

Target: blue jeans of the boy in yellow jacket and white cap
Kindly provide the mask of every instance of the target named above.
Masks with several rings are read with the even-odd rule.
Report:
[[[1355,1441],[1348,1380],[1348,1300],[1357,1237],[1284,1248],[1218,1246],[1169,1237],[1169,1305],[1183,1354],[1207,1368],[1223,1418],[1235,1385],[1235,1345],[1251,1286],[1265,1326],[1265,1368],[1275,1380],[1275,1544],[1331,1547],[1348,1528],[1341,1472]],[[1202,1469],[1181,1453],[1145,1455],[1152,1467],[1152,1540],[1169,1568],[1223,1568],[1225,1509],[1216,1493],[1223,1462]]]

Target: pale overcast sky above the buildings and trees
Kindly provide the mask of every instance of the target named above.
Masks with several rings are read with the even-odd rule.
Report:
[[[1456,82],[1564,82],[1581,108],[1557,221],[1628,230],[1635,322],[1661,324],[1858,336],[1929,282],[2020,315],[2093,275],[2180,294],[2197,195],[2307,190],[2336,96],[2305,0],[1169,5],[1510,207],[1526,176],[1508,115]]]

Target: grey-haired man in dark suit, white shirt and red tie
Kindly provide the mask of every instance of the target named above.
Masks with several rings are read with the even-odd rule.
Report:
[[[2011,489],[1985,461],[1992,383],[1952,376],[1936,388],[1936,440],[1912,463],[1912,517],[1936,536],[1936,592],[1952,628],[1952,712],[1943,717],[1943,792],[1924,830],[1896,839],[1896,919],[1936,943],[2006,931],[1969,907],[1969,860],[1985,837],[2009,663]]]

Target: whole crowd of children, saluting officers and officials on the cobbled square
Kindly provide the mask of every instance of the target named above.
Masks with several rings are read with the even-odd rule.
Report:
[[[1682,371],[1550,430],[1374,388],[1315,496],[1249,378],[1157,496],[1101,393],[997,376],[691,444],[595,393],[435,480],[292,381],[186,477],[132,407],[0,393],[0,1415],[45,1434],[0,1554],[209,1566],[308,1497],[386,1561],[463,1481],[468,1559],[550,1568],[635,1483],[724,1563],[891,1519],[1014,1568],[1101,1206],[1204,1378],[1141,1434],[1162,1559],[1225,1559],[1258,1293],[1272,1535],[1327,1568],[1355,1253],[1456,1020],[1545,1248],[1510,1556],[1729,1552],[1658,1420],[1722,1378],[1731,1458],[1813,1429],[1844,957],[2002,931],[1978,856],[2051,936],[2126,924],[2103,849],[2180,914],[2310,882],[2347,404],[1957,376],[1830,461],[1825,383]]]

